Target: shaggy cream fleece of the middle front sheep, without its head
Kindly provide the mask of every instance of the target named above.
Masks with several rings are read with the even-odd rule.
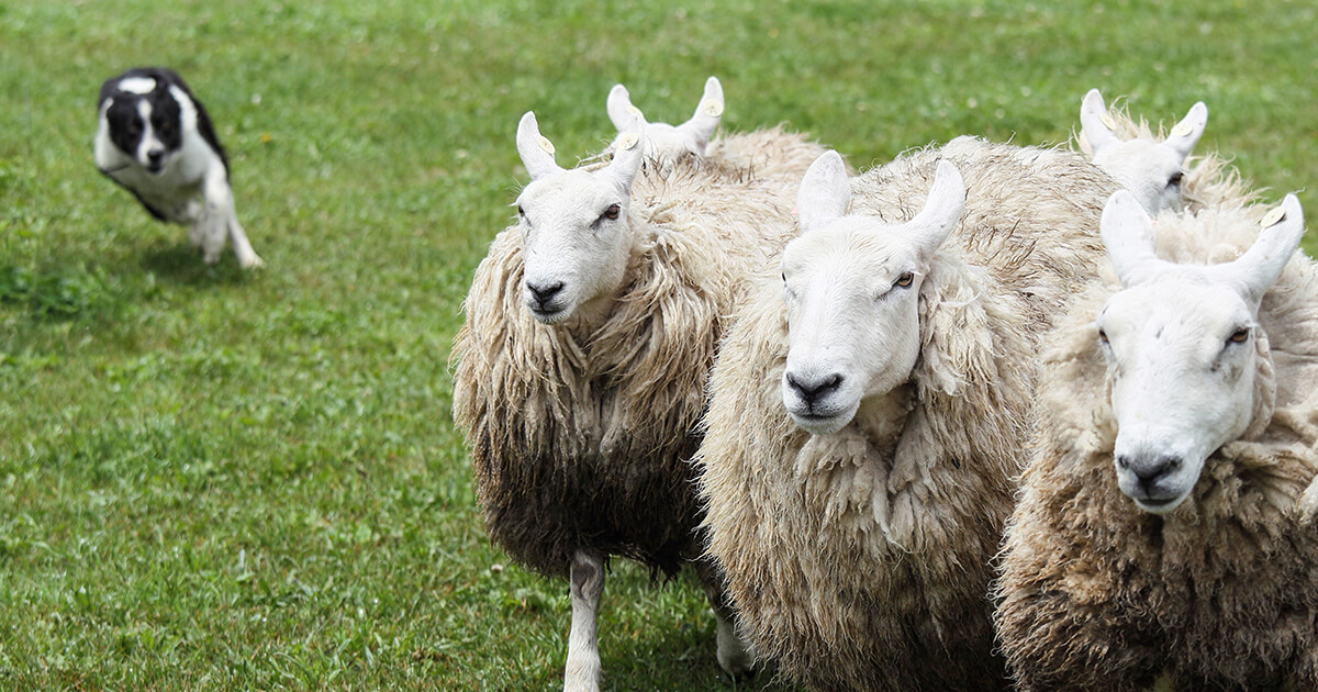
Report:
[[[924,204],[942,157],[966,208],[920,289],[909,382],[833,435],[782,399],[776,272],[738,310],[697,455],[709,554],[757,651],[813,689],[1006,689],[988,584],[1027,439],[1036,335],[1102,260],[1115,188],[1069,152],[958,138],[853,178],[851,211]]]

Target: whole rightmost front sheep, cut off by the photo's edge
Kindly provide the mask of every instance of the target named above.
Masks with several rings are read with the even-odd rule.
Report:
[[[1318,688],[1318,265],[1280,208],[1106,206],[1003,548],[1021,689]]]

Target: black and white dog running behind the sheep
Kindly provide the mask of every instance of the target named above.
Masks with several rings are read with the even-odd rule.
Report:
[[[207,264],[225,239],[244,268],[261,266],[233,212],[229,161],[202,101],[173,70],[138,67],[100,86],[96,167],[161,221],[190,227]]]

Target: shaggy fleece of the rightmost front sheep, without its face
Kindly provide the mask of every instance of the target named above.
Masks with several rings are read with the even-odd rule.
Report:
[[[1159,254],[1228,261],[1257,214],[1164,214]],[[1094,320],[1078,299],[1043,355],[1039,432],[998,592],[1023,689],[1318,689],[1318,266],[1296,253],[1259,314],[1255,415],[1166,515],[1116,486],[1116,423]]]

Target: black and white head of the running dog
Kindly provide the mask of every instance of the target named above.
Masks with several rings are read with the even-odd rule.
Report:
[[[183,113],[170,84],[124,76],[100,104],[109,141],[149,173],[165,170],[183,144]]]

